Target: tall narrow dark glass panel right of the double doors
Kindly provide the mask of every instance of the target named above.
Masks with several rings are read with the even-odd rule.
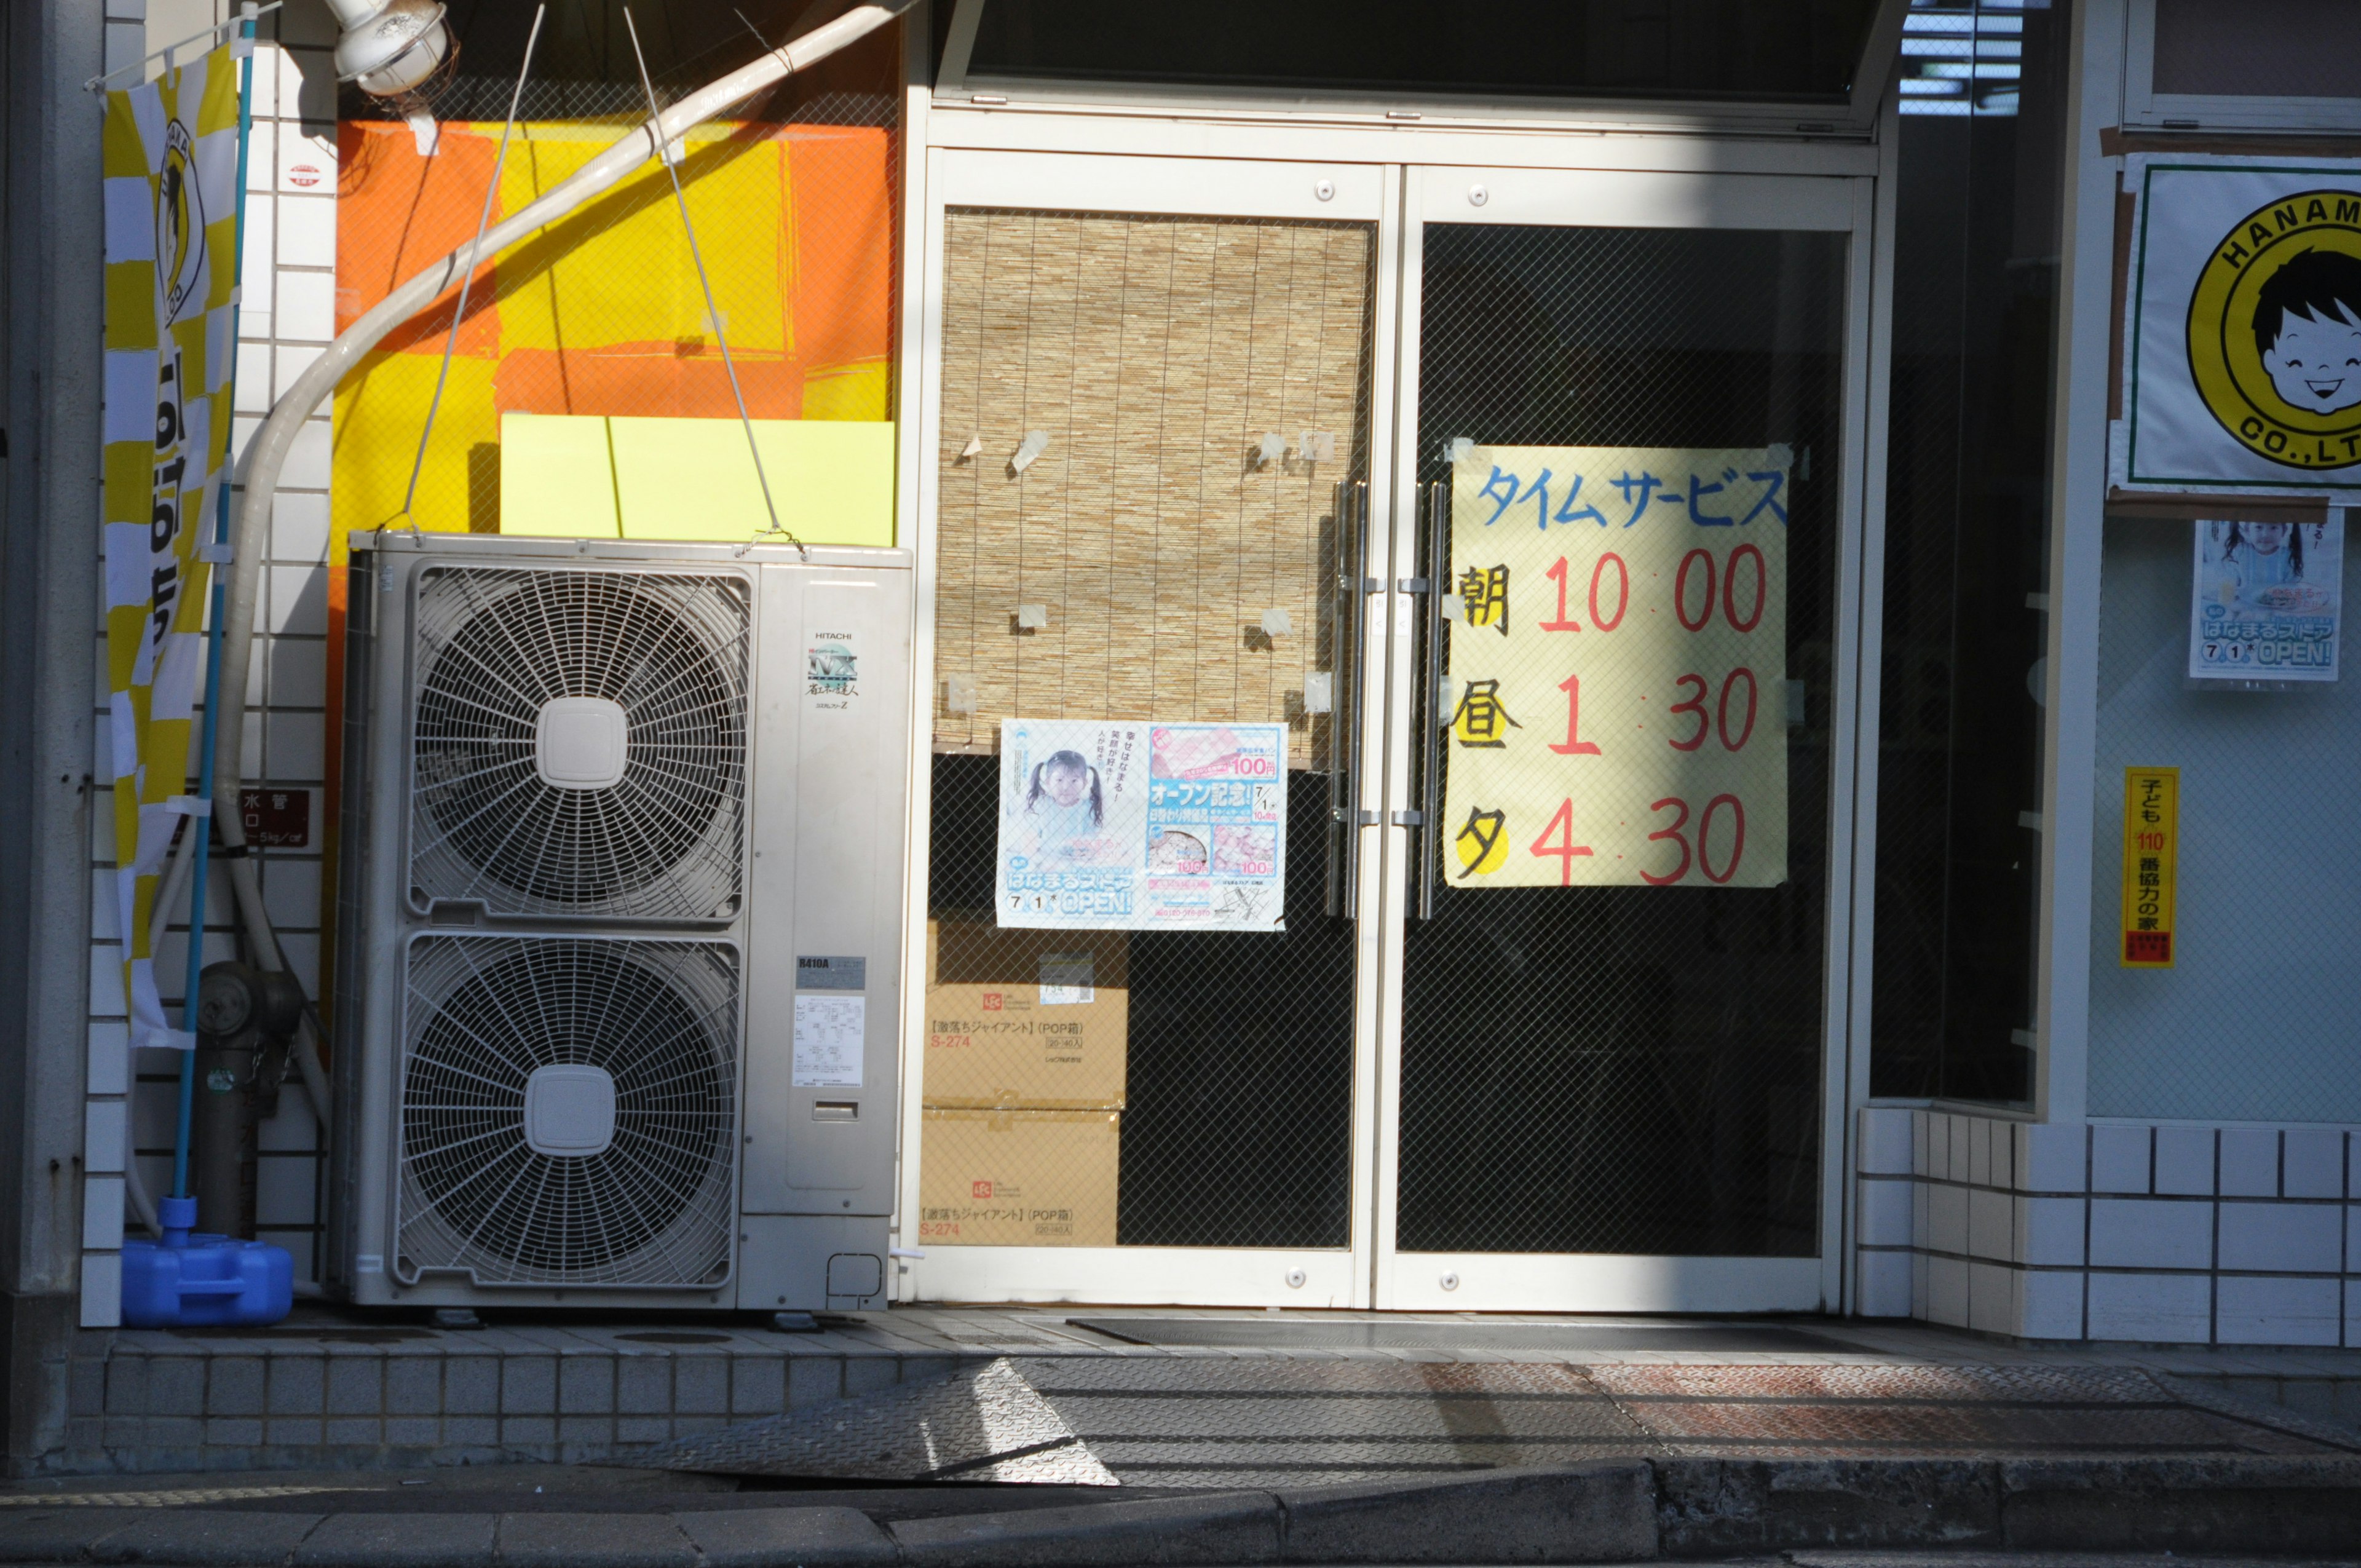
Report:
[[[2066,12],[2035,7],[1912,7],[1903,38],[1879,1096],[2033,1096],[2066,40]]]

